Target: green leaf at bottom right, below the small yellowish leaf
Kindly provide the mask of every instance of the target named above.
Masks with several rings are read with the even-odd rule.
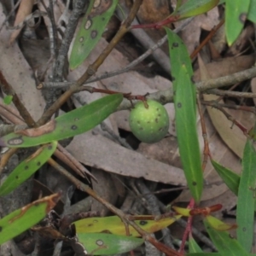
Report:
[[[204,224],[207,229],[209,236],[211,237],[212,242],[218,248],[218,252],[222,256],[248,256],[247,253],[242,247],[241,244],[235,239],[232,238],[227,231],[215,230],[207,222],[207,218],[204,219]],[[223,224],[219,220],[219,224]]]

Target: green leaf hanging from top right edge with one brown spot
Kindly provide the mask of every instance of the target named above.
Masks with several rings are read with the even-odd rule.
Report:
[[[228,44],[233,44],[238,38],[247,20],[250,0],[226,0],[225,31]]]

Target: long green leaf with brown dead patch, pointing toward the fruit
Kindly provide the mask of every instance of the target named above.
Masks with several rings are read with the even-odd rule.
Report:
[[[0,144],[9,148],[26,148],[79,135],[108,118],[122,100],[121,94],[102,97],[38,128],[9,133],[1,138]]]

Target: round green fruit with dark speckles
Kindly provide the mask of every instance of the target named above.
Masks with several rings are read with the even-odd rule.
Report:
[[[131,109],[129,124],[132,133],[143,143],[157,143],[169,128],[169,117],[166,108],[159,102],[148,100],[148,108],[138,102]]]

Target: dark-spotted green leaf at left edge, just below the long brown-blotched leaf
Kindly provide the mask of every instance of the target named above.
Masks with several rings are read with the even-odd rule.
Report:
[[[0,195],[8,195],[11,191],[24,183],[26,179],[37,172],[38,169],[49,160],[50,156],[54,154],[57,147],[57,142],[46,144],[32,154],[29,158],[22,161],[19,166],[10,173],[9,177],[3,182],[0,187]]]

